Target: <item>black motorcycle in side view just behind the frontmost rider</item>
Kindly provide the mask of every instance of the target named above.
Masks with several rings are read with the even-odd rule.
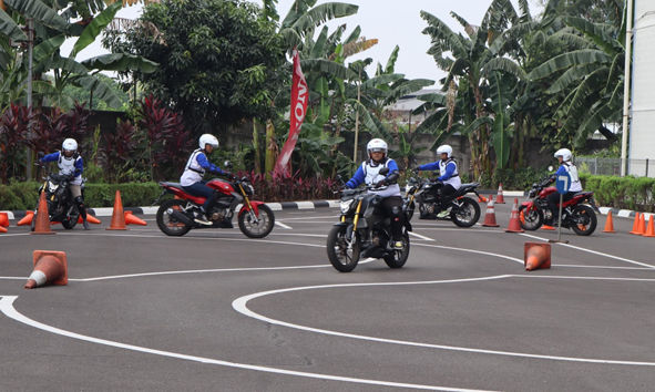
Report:
[[[433,175],[437,175],[437,173],[433,173]],[[439,189],[443,186],[444,184],[439,180],[421,178],[418,175],[417,177],[409,178],[406,186],[407,208],[413,214],[416,204],[418,204],[423,219],[452,220],[459,227],[471,227],[475,225],[480,219],[480,205],[477,200],[465,195],[474,193],[480,199],[480,194],[475,190],[480,184],[462,184],[457,192],[440,200]],[[446,217],[438,216],[439,213],[449,208],[449,215]]]

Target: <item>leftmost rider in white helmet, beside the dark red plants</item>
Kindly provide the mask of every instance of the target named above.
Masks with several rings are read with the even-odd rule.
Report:
[[[82,217],[82,225],[84,230],[91,230],[86,221],[86,207],[84,206],[84,198],[82,197],[82,173],[84,172],[84,161],[78,153],[78,142],[74,138],[66,138],[61,144],[61,153],[52,153],[41,157],[42,163],[55,162],[59,167],[60,175],[69,176],[69,190],[73,197],[73,202],[78,206],[80,216]],[[42,153],[40,153],[42,154]]]

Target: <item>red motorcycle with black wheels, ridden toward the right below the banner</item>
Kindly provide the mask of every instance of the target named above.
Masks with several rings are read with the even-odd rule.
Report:
[[[232,183],[219,178],[207,182],[208,187],[218,192],[218,200],[209,214],[211,226],[194,220],[196,215],[202,214],[205,197],[187,194],[180,183],[161,182],[160,185],[164,190],[153,205],[166,194],[175,195],[174,199],[162,203],[157,209],[157,226],[167,236],[184,236],[191,229],[199,228],[233,228],[232,218],[239,204],[243,206],[238,212],[238,228],[247,237],[264,238],[275,225],[273,210],[264,202],[250,200],[255,189],[246,177],[235,178]]]

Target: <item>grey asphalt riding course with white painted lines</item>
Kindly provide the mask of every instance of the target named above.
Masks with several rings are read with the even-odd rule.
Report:
[[[402,269],[337,272],[337,208],[275,212],[167,237],[147,226],[0,234],[0,391],[653,391],[655,238],[563,230],[552,268],[523,246],[556,231],[412,220]],[[484,206],[482,217],[484,218]],[[65,251],[68,286],[23,289],[33,250]]]

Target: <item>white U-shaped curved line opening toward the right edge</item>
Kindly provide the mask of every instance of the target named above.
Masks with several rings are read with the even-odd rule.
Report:
[[[529,276],[529,275],[499,275],[499,276],[482,277],[482,278],[453,279],[453,280],[379,282],[379,283],[342,283],[342,285],[294,287],[294,288],[287,288],[287,289],[256,292],[256,293],[253,293],[249,296],[244,296],[244,297],[240,297],[240,298],[237,298],[236,300],[234,300],[232,302],[232,307],[234,308],[234,310],[238,311],[239,313],[250,317],[250,318],[254,318],[256,320],[263,321],[263,322],[288,327],[288,328],[298,329],[298,330],[308,331],[308,332],[316,332],[316,333],[323,333],[323,334],[328,334],[328,336],[334,336],[334,337],[340,337],[340,338],[351,338],[351,339],[375,341],[375,342],[380,342],[380,343],[420,347],[420,348],[429,348],[429,349],[440,349],[440,350],[448,350],[448,351],[472,352],[472,353],[482,353],[482,354],[492,354],[492,355],[545,359],[545,360],[566,361],[566,362],[655,367],[655,362],[601,360],[601,359],[592,359],[592,358],[557,357],[557,355],[531,354],[531,353],[513,352],[513,351],[483,350],[483,349],[473,349],[473,348],[457,347],[457,345],[418,343],[418,342],[406,341],[406,340],[383,339],[383,338],[376,338],[376,337],[369,337],[369,336],[362,336],[362,334],[337,332],[337,331],[305,327],[305,326],[300,326],[300,324],[294,324],[290,322],[272,319],[272,318],[262,316],[259,313],[256,313],[256,312],[252,311],[250,309],[248,309],[248,307],[247,307],[247,302],[252,299],[255,299],[255,298],[270,296],[270,295],[277,295],[277,293],[283,293],[283,292],[301,291],[301,290],[332,289],[332,288],[344,288],[344,287],[371,287],[371,286],[443,285],[443,283],[461,283],[461,282],[474,282],[474,281],[483,281],[483,280],[494,280],[494,279],[504,279],[504,278],[525,278],[525,277],[529,277],[529,278],[532,278],[532,277],[534,277],[534,278],[554,278],[554,277],[546,277],[546,276]],[[581,279],[579,277],[566,277],[566,278],[567,279]],[[596,279],[596,278],[589,278],[589,279]],[[597,278],[597,280],[655,281],[655,279],[613,279],[613,278]]]

